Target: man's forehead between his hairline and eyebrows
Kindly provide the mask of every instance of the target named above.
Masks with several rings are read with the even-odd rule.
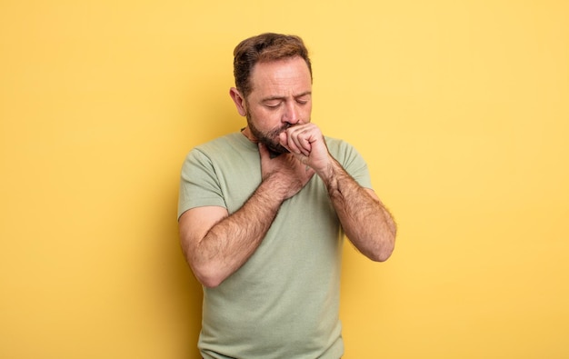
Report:
[[[257,63],[251,72],[251,95],[286,95],[310,91],[312,79],[302,57]]]

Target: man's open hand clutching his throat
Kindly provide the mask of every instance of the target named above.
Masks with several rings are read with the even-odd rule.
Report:
[[[266,145],[259,143],[261,154],[261,175],[270,183],[274,194],[284,201],[297,194],[314,175],[314,170],[299,162],[291,154],[271,158]]]

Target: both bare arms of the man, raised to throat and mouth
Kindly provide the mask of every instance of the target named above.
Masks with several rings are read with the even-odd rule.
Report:
[[[281,204],[314,174],[323,179],[345,234],[362,254],[384,261],[393,252],[394,220],[374,191],[357,184],[335,161],[315,125],[296,127],[281,138],[291,154],[270,158],[265,145],[259,145],[262,182],[234,214],[224,207],[205,206],[180,217],[186,260],[205,286],[221,284],[245,264],[262,243]]]

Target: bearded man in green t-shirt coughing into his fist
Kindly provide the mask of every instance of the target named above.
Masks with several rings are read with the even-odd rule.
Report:
[[[351,145],[311,123],[302,39],[263,34],[235,47],[229,95],[241,132],[199,145],[182,170],[179,227],[204,286],[204,358],[334,358],[343,234],[374,261],[395,224]]]

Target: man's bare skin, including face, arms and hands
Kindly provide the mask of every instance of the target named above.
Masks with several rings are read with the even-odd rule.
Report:
[[[253,90],[230,95],[247,117],[243,134],[257,143],[262,182],[234,214],[205,206],[180,217],[182,248],[197,279],[215,287],[255,253],[283,202],[313,175],[328,190],[344,232],[368,258],[383,262],[392,254],[394,220],[373,190],[363,188],[328,152],[324,135],[312,124],[312,80],[300,57],[255,65]],[[279,153],[274,156],[271,154]]]

